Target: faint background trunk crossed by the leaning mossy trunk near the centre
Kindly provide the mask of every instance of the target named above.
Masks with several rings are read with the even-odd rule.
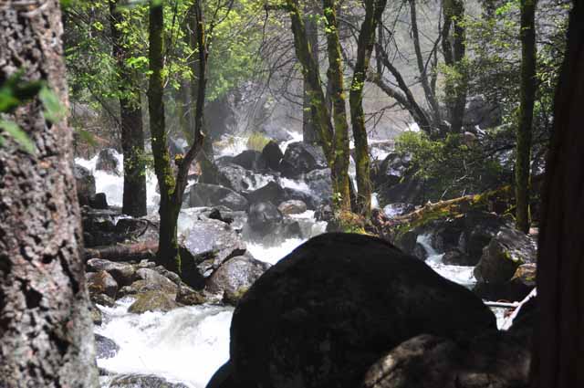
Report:
[[[306,16],[304,25],[307,30],[308,43],[312,47],[312,58],[318,63],[318,25],[314,16]],[[302,141],[309,144],[318,143],[318,131],[313,122],[315,111],[310,102],[310,86],[308,75],[304,75],[304,99],[302,101]]]

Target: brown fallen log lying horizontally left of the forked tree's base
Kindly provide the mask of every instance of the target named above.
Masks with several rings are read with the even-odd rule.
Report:
[[[115,246],[96,246],[83,251],[85,261],[90,258],[103,258],[110,261],[154,260],[158,251],[158,241],[145,241]]]

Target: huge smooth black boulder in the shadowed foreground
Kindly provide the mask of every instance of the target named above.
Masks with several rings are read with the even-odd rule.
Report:
[[[485,330],[495,330],[490,309],[420,260],[379,238],[325,234],[268,269],[240,300],[231,326],[233,381],[354,388],[402,341]]]

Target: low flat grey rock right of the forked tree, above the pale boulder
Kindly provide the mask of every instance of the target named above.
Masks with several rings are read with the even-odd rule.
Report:
[[[247,209],[247,200],[241,194],[223,186],[215,184],[193,184],[190,191],[189,205],[226,206],[231,210]]]

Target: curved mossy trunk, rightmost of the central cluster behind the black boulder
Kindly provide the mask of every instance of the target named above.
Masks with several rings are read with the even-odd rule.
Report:
[[[349,92],[350,121],[355,140],[355,163],[357,165],[357,203],[362,215],[371,212],[370,157],[363,111],[363,88],[369,69],[371,53],[375,43],[375,30],[387,0],[366,0],[365,18],[357,41],[357,59]]]

